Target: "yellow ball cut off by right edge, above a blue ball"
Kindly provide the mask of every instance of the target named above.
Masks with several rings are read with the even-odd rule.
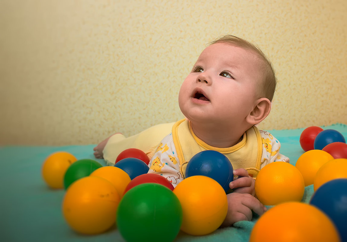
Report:
[[[347,159],[333,159],[322,165],[313,181],[313,190],[338,178],[347,178]]]

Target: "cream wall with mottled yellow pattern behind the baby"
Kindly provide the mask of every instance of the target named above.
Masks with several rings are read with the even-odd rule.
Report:
[[[0,144],[93,144],[178,120],[181,82],[224,34],[273,60],[261,128],[347,124],[346,16],[346,0],[1,0]]]

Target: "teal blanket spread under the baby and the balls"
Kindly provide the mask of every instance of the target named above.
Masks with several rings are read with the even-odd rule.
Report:
[[[335,124],[323,129],[334,129],[347,137],[347,126]],[[270,130],[280,142],[281,153],[295,165],[303,154],[299,137],[304,129]],[[61,212],[64,190],[50,190],[41,177],[44,159],[53,152],[67,151],[77,159],[93,157],[95,145],[71,145],[64,147],[1,147],[0,148],[0,240],[1,241],[122,241],[116,226],[106,233],[87,236],[77,234],[65,223]],[[103,160],[97,160],[105,165]],[[307,186],[303,202],[308,202],[313,187]],[[248,241],[254,223],[241,221],[233,227],[218,229],[205,236],[191,236],[180,232],[176,242],[196,241]],[[161,226],[158,225],[158,229]],[[134,231],[136,233],[136,231]]]

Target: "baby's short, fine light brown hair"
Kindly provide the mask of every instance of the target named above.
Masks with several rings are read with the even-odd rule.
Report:
[[[252,51],[261,59],[261,61],[263,62],[262,69],[264,70],[264,76],[259,94],[264,95],[265,98],[268,98],[270,101],[272,101],[276,89],[277,78],[271,61],[268,59],[268,57],[266,57],[260,47],[234,35],[224,35],[216,40],[211,41],[208,45],[215,43],[229,43],[233,46]]]

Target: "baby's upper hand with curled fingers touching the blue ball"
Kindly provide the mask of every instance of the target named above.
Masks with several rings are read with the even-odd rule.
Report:
[[[248,193],[255,196],[254,183],[255,180],[248,175],[247,170],[239,168],[234,170],[234,181],[229,183],[229,187],[237,193]]]

